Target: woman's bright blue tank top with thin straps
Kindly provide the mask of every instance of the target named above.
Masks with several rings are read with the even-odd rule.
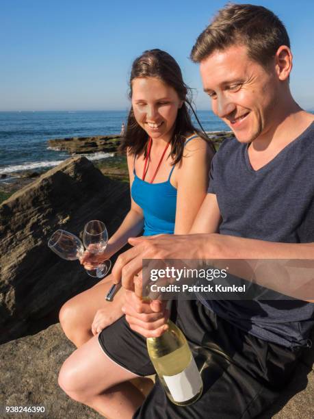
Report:
[[[197,136],[189,138],[184,146]],[[174,166],[170,170],[168,180],[161,183],[148,183],[136,175],[133,170],[134,180],[131,195],[135,203],[143,210],[144,234],[143,236],[155,236],[155,234],[174,233],[176,220],[176,188],[170,183]]]

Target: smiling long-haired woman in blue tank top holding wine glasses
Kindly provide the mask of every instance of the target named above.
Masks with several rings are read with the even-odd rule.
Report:
[[[207,193],[213,147],[192,125],[187,86],[168,53],[145,51],[133,62],[129,112],[122,151],[127,151],[131,210],[101,255],[81,259],[92,268],[114,255],[130,237],[189,232]],[[190,106],[190,105],[189,105]],[[70,299],[60,323],[66,336],[81,346],[122,316],[122,291],[105,301],[109,277]]]

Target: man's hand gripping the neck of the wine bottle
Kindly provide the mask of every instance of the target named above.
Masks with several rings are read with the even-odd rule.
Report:
[[[133,331],[145,338],[158,338],[168,329],[169,318],[166,302],[159,300],[142,301],[133,291],[125,291],[125,304],[122,307],[125,319]]]

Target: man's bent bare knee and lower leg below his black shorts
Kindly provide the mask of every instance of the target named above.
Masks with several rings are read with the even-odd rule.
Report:
[[[91,338],[64,362],[59,385],[75,401],[98,411],[105,418],[132,418],[144,401],[142,393],[125,381],[137,377],[109,359],[98,336]]]

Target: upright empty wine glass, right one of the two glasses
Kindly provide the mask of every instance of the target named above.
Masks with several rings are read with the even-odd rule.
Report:
[[[99,220],[89,221],[83,231],[83,244],[86,250],[93,255],[103,253],[107,247],[107,242],[108,233],[105,224]],[[109,259],[105,259],[96,268],[86,271],[91,277],[103,278],[107,275],[111,266],[112,262]]]

